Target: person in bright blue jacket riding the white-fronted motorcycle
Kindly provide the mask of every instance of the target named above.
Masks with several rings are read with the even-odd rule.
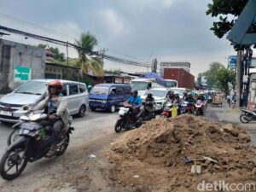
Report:
[[[137,90],[131,90],[131,96],[127,100],[129,104],[132,105],[132,115],[131,120],[135,122],[137,119],[137,114],[140,113],[140,108],[143,104],[143,101],[140,96],[137,95]]]

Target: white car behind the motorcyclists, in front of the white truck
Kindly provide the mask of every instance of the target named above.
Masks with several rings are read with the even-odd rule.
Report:
[[[154,97],[155,102],[155,110],[156,111],[162,111],[164,108],[164,102],[166,102],[166,97],[171,92],[170,88],[153,88],[149,90]],[[145,99],[147,96],[147,93],[142,96],[142,99]]]

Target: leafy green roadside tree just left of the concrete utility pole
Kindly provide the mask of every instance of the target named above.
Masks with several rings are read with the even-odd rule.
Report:
[[[216,78],[218,81],[218,88],[224,90],[226,96],[228,96],[230,94],[229,83],[235,86],[236,73],[233,70],[223,67],[218,69]]]

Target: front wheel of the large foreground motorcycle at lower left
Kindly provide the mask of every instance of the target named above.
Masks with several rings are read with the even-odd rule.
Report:
[[[6,180],[12,180],[15,177],[19,177],[20,173],[26,167],[27,160],[24,158],[24,155],[20,153],[24,153],[23,148],[15,148],[12,151],[7,151],[3,154],[3,158],[0,163],[0,175]],[[7,166],[7,167],[6,167]],[[9,173],[9,171],[15,168],[14,173]]]

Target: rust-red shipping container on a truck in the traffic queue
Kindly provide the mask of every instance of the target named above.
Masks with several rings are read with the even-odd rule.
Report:
[[[165,68],[164,79],[177,80],[178,87],[190,90],[193,90],[195,86],[195,76],[183,68]]]

